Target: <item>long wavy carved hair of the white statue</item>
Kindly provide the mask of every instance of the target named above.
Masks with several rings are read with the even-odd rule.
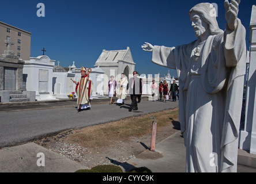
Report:
[[[210,33],[214,35],[223,33],[223,30],[219,28],[216,16],[213,16],[212,14],[213,8],[213,5],[210,3],[199,3],[191,8],[189,16],[192,12],[199,14],[199,16],[209,25]]]

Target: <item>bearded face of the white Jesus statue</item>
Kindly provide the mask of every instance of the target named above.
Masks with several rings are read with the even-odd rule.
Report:
[[[192,22],[192,26],[194,27],[195,37],[201,36],[206,32],[208,28],[208,24],[202,20],[199,14],[192,12],[190,15],[190,20]]]

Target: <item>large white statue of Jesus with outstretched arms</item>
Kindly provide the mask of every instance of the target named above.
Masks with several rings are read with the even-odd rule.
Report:
[[[198,40],[178,47],[142,45],[153,52],[153,63],[177,71],[187,172],[236,172],[246,72],[246,30],[238,18],[239,3],[225,1],[225,31],[210,13],[214,7],[199,3],[189,11]]]

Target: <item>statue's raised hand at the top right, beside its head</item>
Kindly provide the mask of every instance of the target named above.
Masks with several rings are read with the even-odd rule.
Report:
[[[239,11],[239,3],[240,0],[231,0],[229,3],[228,0],[225,0],[224,6],[226,9],[225,18],[228,23],[228,28],[231,30],[235,30],[238,25],[238,11]]]

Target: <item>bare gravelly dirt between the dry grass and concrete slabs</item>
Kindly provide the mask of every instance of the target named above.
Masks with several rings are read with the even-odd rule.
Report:
[[[177,122],[178,121],[170,120],[167,126],[161,128],[161,130],[157,132],[156,143],[179,131]],[[48,150],[57,152],[71,160],[75,160],[88,168],[104,164],[119,165],[150,148],[150,134],[112,141],[112,144],[107,147],[98,147],[97,145],[94,147],[84,147],[69,139],[71,135],[76,133],[77,130],[70,129],[58,135],[46,137],[34,142]]]

